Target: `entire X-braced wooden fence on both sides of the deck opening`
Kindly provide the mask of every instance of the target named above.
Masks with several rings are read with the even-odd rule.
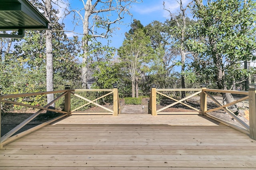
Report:
[[[187,97],[185,97],[184,99],[180,99],[177,100],[174,97],[168,96],[166,94],[164,94],[163,92],[170,92],[170,91],[186,91],[186,92],[190,92],[190,95],[188,95]],[[96,99],[88,99],[86,97],[83,97],[82,95],[78,94],[79,92],[106,92],[106,94],[96,98]],[[211,117],[212,119],[215,119],[221,123],[224,123],[230,127],[236,128],[237,130],[240,130],[241,132],[244,132],[246,134],[249,134],[250,138],[256,140],[256,93],[255,93],[255,89],[250,89],[249,91],[229,91],[229,90],[216,90],[216,89],[206,89],[206,88],[202,88],[202,89],[156,89],[156,88],[152,88],[151,90],[151,94],[150,94],[150,101],[148,103],[148,113],[152,114],[153,116],[156,115],[160,115],[160,114],[200,114],[200,115],[204,115],[204,116],[208,116]],[[33,105],[29,105],[29,104],[24,104],[24,103],[19,103],[17,101],[13,101],[13,100],[8,100],[8,99],[14,99],[14,98],[19,98],[19,97],[30,97],[30,96],[38,96],[38,95],[47,95],[50,93],[54,93],[54,94],[58,94],[58,97],[56,97],[52,102],[48,103],[46,106],[42,107],[42,106],[33,106]],[[238,94],[238,95],[245,95],[244,97],[242,97],[241,99],[238,99],[232,103],[229,103],[227,105],[222,105],[222,103],[220,103],[216,98],[214,98],[210,93],[232,93],[232,94]],[[100,104],[97,103],[98,100],[112,95],[113,94],[113,109],[109,109],[107,107],[104,107]],[[167,105],[165,107],[162,107],[160,109],[157,110],[157,105],[156,105],[156,96],[158,95],[162,95],[164,97],[167,97],[168,99],[171,99],[174,101],[174,103]],[[71,99],[72,96],[73,97],[78,97],[79,99],[82,99],[83,101],[85,101],[86,103],[71,110]],[[183,101],[190,99],[194,96],[198,96],[200,95],[200,109],[192,107],[190,105],[188,105],[187,103],[184,103]],[[64,108],[60,109],[60,110],[56,110],[56,109],[51,109],[50,106],[52,105],[52,103],[57,102],[58,100],[60,100],[61,98],[64,98]],[[210,99],[211,101],[213,101],[214,103],[216,103],[216,105],[218,105],[218,107],[214,108],[214,109],[208,109],[207,108],[207,101],[208,99]],[[249,102],[249,115],[250,115],[250,125],[247,125],[246,123],[244,123],[241,119],[239,119],[234,113],[232,113],[228,107],[230,105],[234,105],[236,103],[242,102],[242,101],[246,101],[248,100]],[[35,109],[39,109],[39,111],[37,111],[36,113],[34,113],[33,115],[31,115],[28,119],[26,119],[25,121],[23,121],[22,123],[20,123],[20,125],[18,125],[17,127],[15,127],[14,129],[10,130],[10,132],[8,132],[7,134],[5,134],[4,136],[2,136],[0,139],[0,148],[2,148],[2,146],[4,144],[7,144],[13,140],[16,140],[16,138],[20,138],[22,136],[25,136],[26,134],[33,132],[35,130],[37,130],[38,128],[42,128],[58,119],[61,119],[65,116],[69,116],[72,114],[111,114],[114,116],[117,116],[118,114],[120,114],[120,101],[119,101],[119,97],[118,97],[118,89],[114,88],[114,89],[65,89],[65,90],[60,90],[60,91],[50,91],[50,92],[38,92],[38,93],[22,93],[22,94],[11,94],[11,95],[0,95],[0,101],[1,103],[9,103],[9,104],[13,104],[13,105],[20,105],[20,106],[24,106],[24,107],[29,107],[29,108],[35,108]],[[85,107],[86,105],[89,104],[93,104],[96,105],[104,110],[106,110],[107,112],[102,112],[102,113],[87,113],[85,111],[78,111],[81,110],[82,107]],[[170,113],[170,112],[163,112],[165,109],[168,109],[169,107],[172,107],[176,104],[182,104],[185,105],[186,107],[194,110],[193,112],[182,112],[182,113]],[[232,116],[237,122],[239,122],[244,128],[240,128],[237,127],[235,125],[232,125],[228,122],[225,122],[221,119],[218,119],[217,117],[214,117],[208,113],[212,112],[212,111],[216,111],[222,109],[224,110],[226,113],[228,113],[230,116]],[[1,109],[0,109],[1,111]],[[58,116],[50,121],[47,121],[45,123],[42,123],[41,125],[38,125],[36,127],[30,128],[29,130],[26,130],[24,132],[21,132],[19,134],[13,135],[15,134],[18,130],[20,130],[20,128],[24,127],[25,125],[27,125],[30,121],[32,121],[32,119],[34,119],[35,117],[37,117],[38,115],[40,115],[40,113],[42,113],[43,111],[52,111],[52,112],[56,112],[56,113],[62,113],[61,116]],[[1,122],[1,117],[0,117],[0,122]],[[1,126],[0,126],[1,127]],[[1,128],[0,128],[1,130]]]

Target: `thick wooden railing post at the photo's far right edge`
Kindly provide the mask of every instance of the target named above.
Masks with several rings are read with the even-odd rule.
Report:
[[[249,88],[250,138],[256,140],[256,95],[255,87]]]

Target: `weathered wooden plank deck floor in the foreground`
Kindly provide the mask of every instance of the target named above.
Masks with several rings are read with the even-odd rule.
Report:
[[[245,170],[256,141],[199,115],[72,115],[0,150],[1,170]]]

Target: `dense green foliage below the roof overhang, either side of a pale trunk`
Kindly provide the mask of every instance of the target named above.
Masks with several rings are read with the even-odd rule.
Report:
[[[55,29],[62,29],[62,27]],[[25,35],[23,41],[14,43],[13,51],[2,53],[0,60],[2,94],[46,91],[44,31],[26,31]],[[68,39],[63,32],[55,32],[53,37],[54,89],[58,90],[64,89],[67,83],[72,84],[79,80],[80,67],[75,58],[79,52],[76,50],[78,38]],[[4,42],[3,39],[0,41]],[[13,101],[44,106],[46,96],[17,98]],[[14,109],[23,108],[14,105]]]

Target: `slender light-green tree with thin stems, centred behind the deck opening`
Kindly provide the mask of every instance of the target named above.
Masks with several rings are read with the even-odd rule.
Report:
[[[135,96],[135,85],[143,75],[150,72],[150,63],[154,59],[150,36],[146,36],[145,29],[139,21],[133,23],[132,31],[126,33],[126,39],[118,49],[122,61],[122,70],[130,77],[132,84],[132,97]]]

